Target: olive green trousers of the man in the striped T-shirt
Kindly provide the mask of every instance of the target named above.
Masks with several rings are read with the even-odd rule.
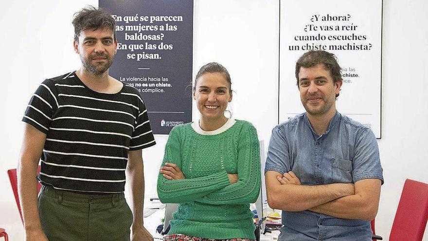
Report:
[[[44,186],[39,217],[49,241],[129,241],[132,212],[124,193],[85,195]]]

